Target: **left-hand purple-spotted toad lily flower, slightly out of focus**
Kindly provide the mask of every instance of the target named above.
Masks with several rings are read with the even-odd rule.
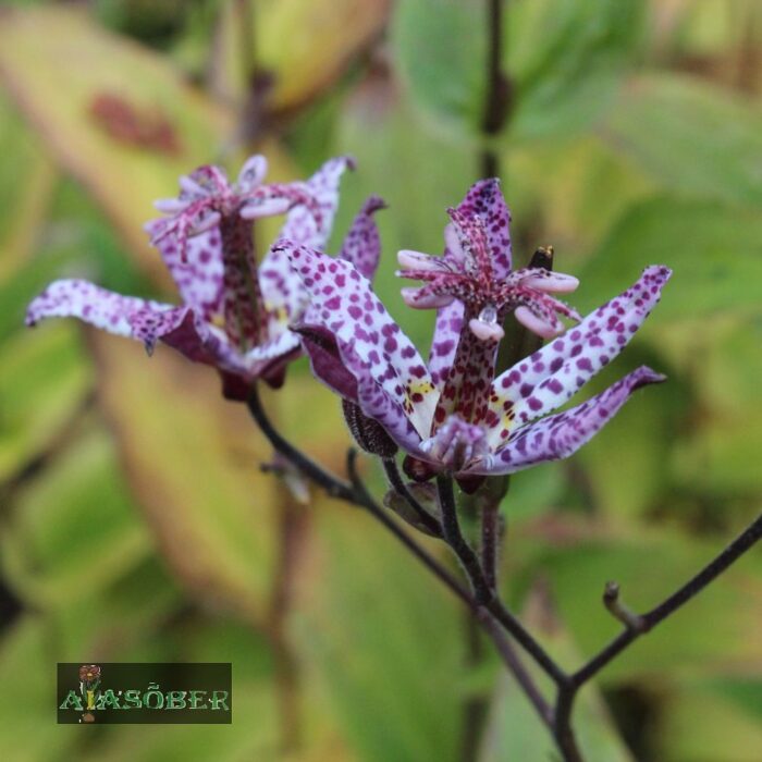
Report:
[[[259,266],[253,220],[287,212],[282,237],[323,248],[339,204],[339,183],[351,165],[331,159],[306,182],[263,184],[265,157],[254,156],[236,183],[217,167],[181,177],[177,199],[159,201],[168,217],[147,230],[172,274],[183,304],[122,296],[82,280],[51,283],[29,305],[27,324],[48,317],[77,317],[111,333],[132,336],[152,352],[161,340],[198,362],[217,367],[225,394],[244,398],[257,378],[282,383],[299,353],[288,330],[307,304],[307,292],[275,247]],[[369,199],[356,218],[341,256],[371,278],[379,257]]]

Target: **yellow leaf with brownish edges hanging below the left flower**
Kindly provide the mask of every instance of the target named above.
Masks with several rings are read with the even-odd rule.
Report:
[[[214,371],[159,347],[91,334],[101,402],[168,563],[194,595],[262,624],[274,564],[278,484],[241,405]]]

